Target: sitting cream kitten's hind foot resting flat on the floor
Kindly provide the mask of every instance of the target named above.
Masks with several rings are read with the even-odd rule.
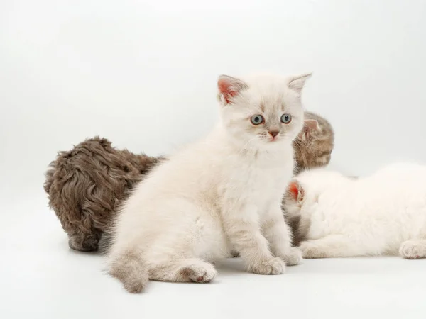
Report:
[[[209,262],[199,258],[170,258],[150,264],[149,279],[156,281],[198,282],[212,281],[217,271]]]

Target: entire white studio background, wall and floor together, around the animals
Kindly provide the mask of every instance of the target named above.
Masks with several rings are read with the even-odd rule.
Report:
[[[397,257],[283,276],[233,259],[213,284],[129,296],[68,249],[42,185],[94,135],[159,155],[207,133],[221,73],[314,72],[305,106],[346,174],[426,162],[425,17],[425,0],[0,0],[0,318],[423,319],[425,264]]]

